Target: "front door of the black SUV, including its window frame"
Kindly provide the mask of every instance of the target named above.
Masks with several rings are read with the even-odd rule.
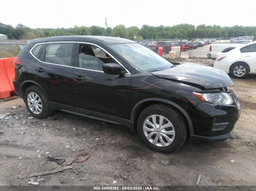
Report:
[[[101,47],[91,43],[77,43],[75,56],[72,72],[75,110],[127,122],[131,74],[104,73],[103,64],[118,62]]]

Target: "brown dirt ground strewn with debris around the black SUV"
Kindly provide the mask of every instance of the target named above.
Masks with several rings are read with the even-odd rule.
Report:
[[[233,80],[229,89],[234,90],[242,108],[233,135],[211,145],[185,142],[171,154],[150,150],[137,132],[125,126],[60,111],[47,119],[28,119],[21,98],[1,101],[0,114],[12,112],[12,117],[0,120],[0,185],[28,185],[32,174],[63,168],[79,153],[89,152],[87,161],[71,164],[73,169],[36,177],[45,179],[40,185],[193,186],[201,174],[201,186],[255,186],[256,74]],[[59,165],[47,156],[66,161]],[[161,160],[170,164],[159,166]]]

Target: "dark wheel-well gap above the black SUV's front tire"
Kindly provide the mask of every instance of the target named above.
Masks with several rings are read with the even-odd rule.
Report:
[[[136,110],[136,112],[135,112],[132,130],[137,129],[137,120],[138,120],[138,116],[140,115],[140,113],[141,113],[143,110],[145,110],[147,107],[149,107],[149,106],[151,106],[151,105],[153,105],[153,104],[157,104],[157,103],[158,103],[158,104],[165,104],[165,105],[167,105],[168,107],[171,107],[171,108],[175,109],[175,110],[183,117],[184,122],[186,123],[186,129],[187,129],[187,132],[188,132],[187,135],[188,135],[188,138],[189,138],[190,130],[189,130],[189,126],[188,126],[188,121],[187,121],[187,119],[185,118],[184,114],[181,113],[181,111],[178,110],[176,107],[174,107],[174,106],[172,106],[172,105],[170,105],[170,104],[168,104],[168,103],[161,102],[161,101],[147,101],[147,102],[141,103],[141,104],[138,106],[138,108],[137,108],[137,110]]]

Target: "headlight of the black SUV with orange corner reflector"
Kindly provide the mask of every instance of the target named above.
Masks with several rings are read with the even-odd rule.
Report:
[[[227,93],[202,94],[193,92],[193,94],[201,101],[217,104],[231,104],[233,99]]]

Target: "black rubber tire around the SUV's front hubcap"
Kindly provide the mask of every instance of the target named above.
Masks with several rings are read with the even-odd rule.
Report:
[[[173,142],[168,146],[157,146],[149,142],[143,131],[144,121],[151,115],[161,115],[168,119],[175,130],[175,138]],[[170,153],[178,150],[185,142],[187,137],[187,127],[184,117],[174,108],[165,104],[154,104],[143,110],[137,121],[137,131],[141,139],[154,151]],[[158,140],[159,143],[160,140]]]

